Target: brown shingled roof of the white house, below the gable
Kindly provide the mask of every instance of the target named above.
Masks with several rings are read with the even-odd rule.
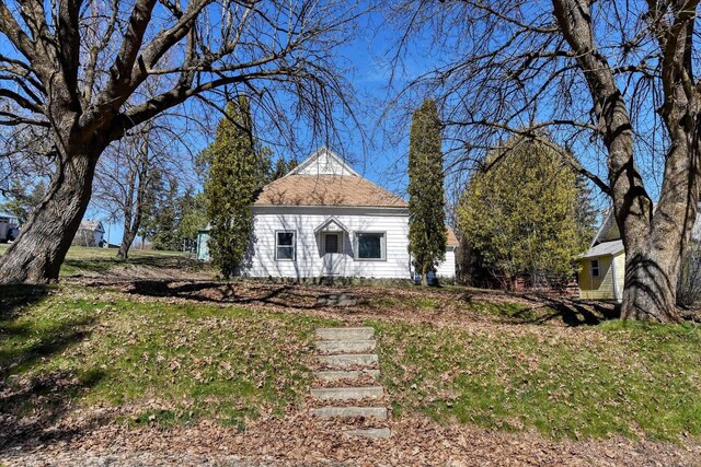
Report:
[[[266,185],[255,206],[363,206],[406,208],[397,195],[356,176],[288,175]]]

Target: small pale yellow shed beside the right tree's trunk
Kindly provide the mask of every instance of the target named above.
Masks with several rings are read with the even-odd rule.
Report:
[[[697,218],[691,236],[701,241],[701,217]],[[612,211],[605,214],[591,246],[579,257],[579,266],[581,299],[623,300],[625,252]]]

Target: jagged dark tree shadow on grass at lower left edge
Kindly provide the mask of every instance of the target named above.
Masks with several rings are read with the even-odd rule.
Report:
[[[80,394],[104,376],[100,370],[78,374],[42,365],[83,341],[94,323],[90,315],[23,319],[25,307],[46,299],[42,285],[0,285],[0,451],[67,439],[78,430],[51,430]]]

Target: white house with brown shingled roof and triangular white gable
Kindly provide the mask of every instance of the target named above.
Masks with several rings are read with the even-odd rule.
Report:
[[[413,277],[409,207],[322,148],[265,186],[253,203],[249,277]],[[197,257],[208,259],[206,231]],[[438,277],[456,273],[458,241],[449,230]]]

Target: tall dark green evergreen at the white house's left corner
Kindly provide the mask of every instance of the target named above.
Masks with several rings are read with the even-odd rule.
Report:
[[[210,220],[209,253],[225,278],[235,273],[245,258],[253,230],[251,205],[269,174],[269,151],[262,151],[253,135],[248,97],[227,105],[215,141],[205,150],[209,174],[205,183]]]

